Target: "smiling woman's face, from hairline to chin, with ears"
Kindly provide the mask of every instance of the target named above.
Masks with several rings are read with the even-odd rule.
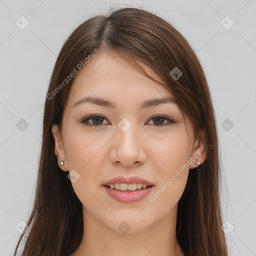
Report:
[[[85,97],[96,100],[85,102]],[[145,101],[165,97],[173,102],[154,101],[141,108]],[[103,100],[112,105],[100,104]],[[176,211],[189,168],[206,155],[174,101],[162,85],[113,53],[99,52],[76,74],[63,112],[62,137],[57,125],[52,134],[58,161],[64,160],[60,168],[71,171],[71,184],[88,216],[116,232],[126,221],[129,232],[138,232]],[[145,193],[144,188],[133,191],[137,195],[125,201],[132,191],[115,190],[117,197],[112,197],[112,189],[103,186],[117,176],[137,176],[152,186]]]

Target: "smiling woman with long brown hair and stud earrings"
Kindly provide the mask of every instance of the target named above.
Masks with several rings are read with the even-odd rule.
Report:
[[[227,255],[203,69],[168,22],[121,8],[80,24],[44,105],[30,255]],[[22,239],[23,237],[23,239]]]

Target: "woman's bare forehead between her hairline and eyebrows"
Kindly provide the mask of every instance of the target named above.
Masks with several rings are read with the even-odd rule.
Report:
[[[144,70],[163,82],[149,67],[141,63]],[[67,104],[82,96],[107,97],[123,100],[149,99],[173,96],[163,85],[140,73],[120,56],[99,52],[75,75]]]

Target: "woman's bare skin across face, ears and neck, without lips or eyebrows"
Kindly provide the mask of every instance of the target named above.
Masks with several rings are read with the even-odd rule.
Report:
[[[149,68],[144,68],[159,79]],[[88,102],[72,107],[85,96],[113,101],[116,108]],[[164,96],[172,94],[109,52],[96,54],[75,75],[63,112],[62,136],[60,127],[52,125],[55,154],[58,161],[64,161],[59,167],[66,174],[74,169],[80,175],[71,184],[83,204],[84,233],[71,256],[184,255],[175,236],[177,203],[189,168],[205,160],[206,149],[202,140],[193,137],[192,124],[185,116],[186,131],[177,104],[139,108],[144,100]],[[90,114],[103,115],[103,119],[87,120],[93,127],[80,122]],[[155,114],[177,123],[164,125],[169,121],[152,119]],[[123,118],[131,123],[127,131],[118,126]],[[149,201],[149,196],[198,151],[200,155],[189,168],[184,168],[154,202]],[[149,195],[137,202],[116,201],[102,187],[110,178],[133,175],[154,184]],[[127,233],[118,228],[123,221],[130,226]]]

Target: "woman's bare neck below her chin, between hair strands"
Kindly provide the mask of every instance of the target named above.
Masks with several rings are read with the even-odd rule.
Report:
[[[183,256],[175,234],[176,212],[177,205],[160,221],[137,232],[131,232],[131,228],[127,233],[122,233],[99,222],[83,208],[83,237],[72,256]]]

